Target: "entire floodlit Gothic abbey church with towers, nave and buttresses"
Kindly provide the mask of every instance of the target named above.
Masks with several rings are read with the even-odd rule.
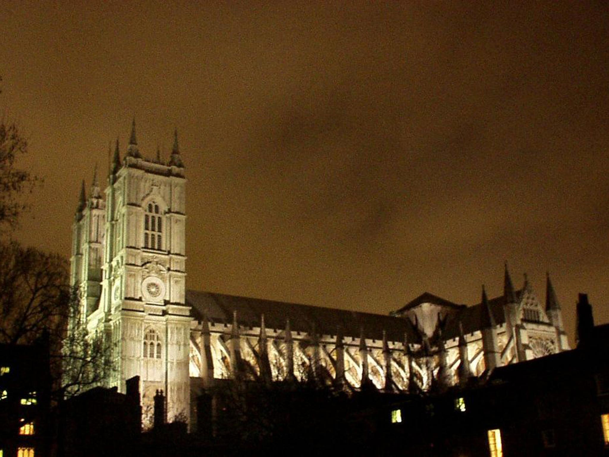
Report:
[[[507,266],[500,297],[483,289],[464,306],[425,293],[387,316],[187,291],[185,183],[177,133],[169,161],[144,158],[134,122],[105,198],[96,172],[72,228],[82,325],[113,343],[108,386],[125,392],[139,375],[145,427],[157,390],[167,419],[194,422],[197,395],[221,380],[427,391],[569,349],[549,277],[542,306],[527,280],[513,288]]]

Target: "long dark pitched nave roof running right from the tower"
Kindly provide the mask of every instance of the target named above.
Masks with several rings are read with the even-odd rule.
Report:
[[[210,324],[230,325],[233,322],[233,311],[237,311],[237,321],[244,327],[259,327],[264,314],[267,329],[283,329],[289,319],[291,330],[302,333],[308,333],[314,328],[318,334],[336,335],[337,328],[340,327],[343,336],[359,338],[363,327],[365,338],[380,341],[385,330],[389,341],[404,341],[406,333],[409,342],[420,342],[409,319],[403,317],[202,291],[186,291],[186,304],[192,306],[195,319],[202,321],[205,314]]]

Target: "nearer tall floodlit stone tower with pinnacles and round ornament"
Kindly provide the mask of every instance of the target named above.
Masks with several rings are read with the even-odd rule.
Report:
[[[158,152],[155,159],[140,154],[133,121],[122,161],[116,142],[105,214],[99,216],[103,257],[93,275],[87,274],[92,263],[84,257],[98,246],[83,238],[82,232],[89,232],[79,228],[82,222],[74,225],[74,244],[81,248],[72,255],[72,283],[81,286],[86,277],[99,285],[85,294],[81,286],[86,325],[104,331],[113,343],[116,371],[107,384],[124,392],[125,380],[138,375],[145,422],[158,389],[166,393],[167,419],[189,413],[192,319],[185,304],[185,182],[177,132],[171,158],[161,163]],[[92,219],[87,211],[77,212],[77,219]]]

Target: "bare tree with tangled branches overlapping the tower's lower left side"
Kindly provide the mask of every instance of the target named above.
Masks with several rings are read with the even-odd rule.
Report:
[[[79,299],[68,285],[65,258],[0,242],[0,342],[48,340],[57,400],[102,383],[112,369],[103,333],[88,334],[79,323]]]

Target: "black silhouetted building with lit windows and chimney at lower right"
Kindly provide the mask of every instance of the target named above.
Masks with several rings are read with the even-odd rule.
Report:
[[[584,294],[578,305],[590,318]],[[420,456],[609,455],[609,325],[587,335],[594,344],[387,406],[384,442]]]

